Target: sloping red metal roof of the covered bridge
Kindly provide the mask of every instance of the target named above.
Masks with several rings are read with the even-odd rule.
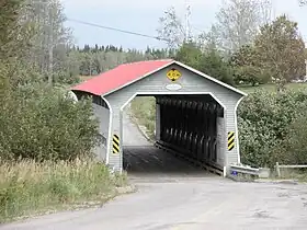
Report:
[[[160,68],[163,68],[171,62],[173,62],[173,60],[167,59],[124,64],[76,85],[72,90],[89,92],[95,95],[104,95],[134,81],[140,80],[147,74],[158,71]]]

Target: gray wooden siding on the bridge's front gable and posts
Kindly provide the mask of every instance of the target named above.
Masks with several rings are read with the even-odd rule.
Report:
[[[223,103],[223,105],[226,107],[225,110],[225,119],[226,119],[226,126],[225,126],[225,136],[224,136],[224,142],[227,145],[227,133],[228,131],[236,131],[236,104],[237,102],[242,97],[242,95],[219,85],[218,83],[215,83],[211,80],[207,80],[198,74],[195,74],[184,68],[181,68],[177,65],[172,65],[163,70],[160,70],[159,72],[156,72],[145,79],[141,79],[133,84],[129,84],[121,90],[117,90],[114,93],[111,93],[105,96],[105,99],[109,101],[112,107],[113,112],[113,133],[120,133],[120,116],[121,116],[121,107],[130,100],[136,93],[141,94],[155,94],[155,93],[166,93],[170,94],[171,91],[166,89],[167,84],[172,83],[167,78],[167,71],[169,71],[171,68],[177,68],[179,71],[181,71],[182,77],[175,82],[180,83],[182,85],[182,89],[174,91],[174,93],[213,93],[218,101]],[[238,137],[238,134],[236,134],[236,137]],[[238,138],[237,138],[238,141]],[[237,143],[236,141],[236,143]],[[237,145],[231,151],[227,151],[227,148],[224,150],[226,163],[236,163],[239,161],[239,154]],[[121,159],[122,156],[114,156],[110,154],[110,163],[114,164],[115,166],[121,165]]]

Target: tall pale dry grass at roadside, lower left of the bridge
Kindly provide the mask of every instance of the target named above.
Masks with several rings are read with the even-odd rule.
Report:
[[[1,162],[0,175],[0,222],[101,204],[127,184],[125,175],[112,176],[104,164],[90,160]]]

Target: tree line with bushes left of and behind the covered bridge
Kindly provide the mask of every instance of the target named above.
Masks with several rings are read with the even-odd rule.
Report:
[[[167,11],[159,20],[158,34],[159,37],[169,37],[168,48],[148,47],[143,51],[100,44],[77,47],[73,45],[71,31],[64,25],[66,15],[59,0],[2,1],[0,125],[5,127],[0,130],[2,154],[5,152],[7,157],[18,157],[21,150],[24,150],[27,152],[25,156],[41,152],[42,157],[53,152],[54,157],[60,158],[59,151],[65,151],[58,145],[66,146],[66,151],[71,150],[69,146],[78,140],[69,137],[78,138],[78,134],[86,135],[82,139],[84,142],[79,141],[84,145],[83,149],[78,149],[89,152],[90,147],[96,143],[98,134],[94,122],[89,118],[91,112],[84,115],[82,110],[86,110],[86,105],[80,104],[77,110],[66,104],[69,102],[59,96],[62,91],[55,87],[62,89],[64,85],[79,81],[80,74],[98,74],[120,64],[174,58],[229,84],[276,82],[281,85],[280,89],[292,79],[304,74],[305,46],[296,22],[285,15],[269,20],[269,4],[264,0],[225,2],[217,13],[217,23],[200,36],[191,34],[184,37],[183,24],[175,10]],[[71,127],[79,133],[66,134],[67,142],[49,140],[49,143],[54,145],[47,150],[44,147],[46,140],[36,140],[48,136],[47,134],[61,134],[55,130],[60,126],[49,123],[54,120],[50,115],[54,111],[58,111],[58,124],[64,123],[60,119],[67,124],[70,120],[73,123]],[[76,115],[75,118],[71,118],[71,114]],[[44,122],[37,126],[37,120],[33,117],[39,117]],[[88,124],[86,130],[84,124]],[[24,133],[24,136],[16,138],[19,130],[27,130],[33,135]],[[33,141],[27,139],[29,137],[36,139]],[[53,137],[59,138],[58,135]],[[79,150],[76,152],[80,152]]]

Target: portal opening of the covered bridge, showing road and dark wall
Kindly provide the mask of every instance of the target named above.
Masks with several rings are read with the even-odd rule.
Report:
[[[223,174],[224,107],[212,94],[138,94],[121,119],[128,173]]]

